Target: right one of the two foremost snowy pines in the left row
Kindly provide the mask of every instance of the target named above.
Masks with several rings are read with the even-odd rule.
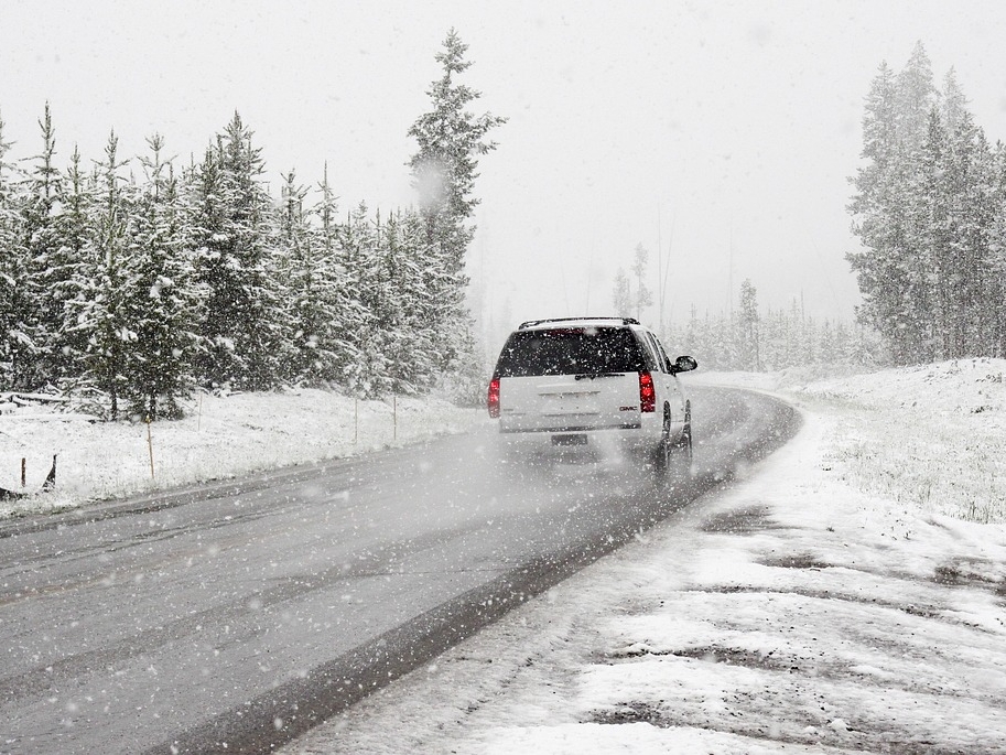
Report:
[[[122,393],[130,411],[154,421],[182,416],[194,386],[202,296],[174,165],[164,138],[147,140],[144,182],[136,191],[128,229],[130,285],[123,321],[136,339],[125,352]]]

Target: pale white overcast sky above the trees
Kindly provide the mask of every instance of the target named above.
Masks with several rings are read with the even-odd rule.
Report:
[[[154,132],[187,161],[234,111],[269,179],[329,177],[344,207],[413,202],[405,136],[448,28],[469,45],[480,112],[509,117],[483,159],[470,270],[494,317],[605,313],[636,245],[672,262],[666,317],[762,305],[851,319],[844,255],[863,100],[916,41],[955,67],[1006,138],[1006,3],[112,2],[0,0],[0,117],[13,157],[134,155]],[[733,260],[733,273],[731,273]],[[655,323],[656,308],[648,320]],[[502,325],[504,323],[500,323]]]

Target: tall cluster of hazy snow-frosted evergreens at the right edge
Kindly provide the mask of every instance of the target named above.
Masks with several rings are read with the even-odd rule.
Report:
[[[1006,356],[1006,145],[989,144],[951,69],[917,44],[870,85],[848,206],[859,317],[895,364]]]

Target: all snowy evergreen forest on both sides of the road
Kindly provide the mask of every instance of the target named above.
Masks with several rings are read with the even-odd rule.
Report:
[[[102,159],[75,149],[60,166],[47,106],[40,153],[10,164],[0,120],[0,391],[150,420],[179,417],[197,388],[480,402],[495,345],[477,343],[465,254],[478,159],[506,119],[468,111],[480,95],[457,80],[466,51],[452,30],[409,128],[418,207],[387,214],[340,208],[327,170],[313,187],[291,171],[270,195],[238,114],[184,165],[160,136],[122,159],[111,133]],[[921,44],[902,71],[881,64],[863,137],[856,321],[814,321],[799,300],[762,311],[746,280],[729,312],[658,323],[669,350],[751,370],[1004,356],[1006,148],[988,144],[953,71],[937,88]],[[648,322],[652,291],[668,295],[648,262],[638,245],[615,314]]]

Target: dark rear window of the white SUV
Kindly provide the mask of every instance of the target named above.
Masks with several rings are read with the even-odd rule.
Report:
[[[496,364],[498,377],[638,373],[647,369],[632,332],[625,327],[558,327],[517,331]]]

